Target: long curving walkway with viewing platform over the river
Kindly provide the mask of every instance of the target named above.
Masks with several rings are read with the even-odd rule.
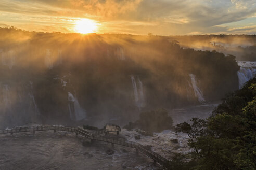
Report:
[[[91,141],[98,140],[98,141],[105,141],[107,143],[111,143],[112,146],[114,144],[116,145],[122,145],[130,148],[135,148],[136,153],[142,152],[145,155],[147,155],[149,158],[153,159],[153,162],[156,164],[157,162],[162,165],[163,167],[169,167],[171,164],[171,161],[168,159],[162,157],[158,153],[152,151],[151,149],[147,149],[145,146],[133,142],[133,141],[126,141],[124,139],[113,139],[109,138],[106,135],[105,136],[99,136],[100,134],[107,134],[109,132],[117,132],[117,135],[119,135],[119,132],[121,131],[121,128],[116,124],[106,124],[103,129],[97,130],[97,131],[89,131],[86,129],[83,129],[82,126],[79,127],[67,127],[67,126],[57,126],[57,125],[39,125],[39,126],[29,126],[29,127],[15,127],[14,129],[6,129],[6,130],[0,130],[0,134],[13,134],[13,133],[19,133],[19,132],[32,132],[33,134],[36,131],[66,131],[66,132],[75,132],[76,135],[82,135],[84,137],[90,138]]]

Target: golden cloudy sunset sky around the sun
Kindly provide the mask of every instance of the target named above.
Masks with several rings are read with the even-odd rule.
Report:
[[[256,1],[0,0],[0,27],[72,33],[81,19],[96,33],[256,34]]]

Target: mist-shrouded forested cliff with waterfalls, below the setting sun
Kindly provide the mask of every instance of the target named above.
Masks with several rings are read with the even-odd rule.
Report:
[[[238,89],[234,55],[183,48],[167,36],[2,28],[0,37],[3,126],[83,118],[124,125],[140,111],[220,100]]]

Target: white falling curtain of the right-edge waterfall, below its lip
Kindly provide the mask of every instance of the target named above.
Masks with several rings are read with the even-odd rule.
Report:
[[[252,79],[255,74],[256,69],[253,67],[241,67],[240,71],[237,72],[239,89],[242,88],[244,83]]]

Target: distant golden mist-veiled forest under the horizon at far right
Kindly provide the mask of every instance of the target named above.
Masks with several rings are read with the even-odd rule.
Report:
[[[216,50],[232,54],[240,61],[256,61],[256,35],[170,36],[184,48]]]

